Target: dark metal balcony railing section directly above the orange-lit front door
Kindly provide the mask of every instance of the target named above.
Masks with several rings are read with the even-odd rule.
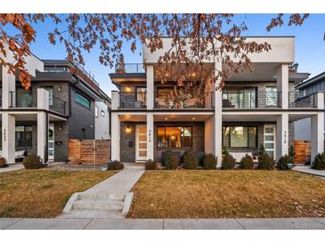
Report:
[[[120,92],[119,108],[141,109],[147,106],[146,92]]]

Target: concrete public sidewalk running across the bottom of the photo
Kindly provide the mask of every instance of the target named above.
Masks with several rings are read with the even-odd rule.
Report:
[[[2,230],[325,230],[325,218],[264,219],[20,219],[0,218]]]

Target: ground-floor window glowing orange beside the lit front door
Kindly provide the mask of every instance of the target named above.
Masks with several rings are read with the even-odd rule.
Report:
[[[191,148],[191,126],[158,126],[158,148]]]

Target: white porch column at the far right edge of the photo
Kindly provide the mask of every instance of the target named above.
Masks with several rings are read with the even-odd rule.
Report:
[[[319,112],[311,118],[311,161],[317,153],[324,151],[324,113]]]

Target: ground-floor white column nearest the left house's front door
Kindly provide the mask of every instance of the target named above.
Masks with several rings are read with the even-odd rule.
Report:
[[[43,163],[47,163],[48,115],[46,112],[37,113],[37,155]]]

